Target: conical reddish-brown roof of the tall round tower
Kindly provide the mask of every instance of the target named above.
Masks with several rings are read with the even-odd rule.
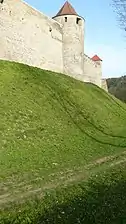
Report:
[[[72,5],[66,1],[65,4],[62,6],[60,11],[56,14],[56,16],[63,16],[63,15],[78,15]]]

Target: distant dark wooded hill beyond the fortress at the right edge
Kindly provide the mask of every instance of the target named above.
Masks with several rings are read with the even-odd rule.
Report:
[[[126,76],[109,78],[107,84],[109,92],[126,103]]]

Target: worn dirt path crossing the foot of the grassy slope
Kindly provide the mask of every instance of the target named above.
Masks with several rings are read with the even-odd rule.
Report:
[[[5,193],[0,194],[0,207],[2,208],[3,205],[8,204],[10,202],[24,201],[30,195],[33,196],[33,195],[39,194],[40,197],[43,197],[45,190],[55,189],[56,187],[60,185],[67,186],[71,183],[74,183],[75,181],[84,180],[89,177],[88,171],[90,171],[91,169],[93,170],[99,165],[103,165],[107,163],[107,167],[108,166],[112,167],[112,166],[116,166],[125,162],[126,162],[126,151],[116,154],[114,156],[106,156],[106,157],[97,159],[94,162],[86,165],[83,169],[82,167],[78,168],[76,173],[75,173],[75,170],[67,170],[64,172],[58,172],[57,173],[58,179],[54,178],[54,180],[53,179],[49,180],[49,182],[47,182],[47,184],[44,184],[44,185],[42,185],[41,183],[41,187],[38,187],[38,188],[32,185],[29,185],[29,182],[17,183],[17,185],[14,186],[15,188],[14,193],[9,191],[9,189],[6,186],[7,183],[1,183],[0,192],[2,192],[1,190],[3,190],[3,186],[6,186],[5,187],[6,191]],[[51,176],[53,177],[52,174]],[[37,178],[34,179],[34,181],[36,180]]]

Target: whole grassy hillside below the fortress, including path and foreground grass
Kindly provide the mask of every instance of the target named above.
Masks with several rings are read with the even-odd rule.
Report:
[[[95,85],[0,61],[0,121],[0,223],[124,217],[125,104]]]

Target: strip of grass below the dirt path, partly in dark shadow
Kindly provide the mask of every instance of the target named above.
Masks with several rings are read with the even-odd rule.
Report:
[[[126,164],[10,205],[1,224],[126,224]]]

